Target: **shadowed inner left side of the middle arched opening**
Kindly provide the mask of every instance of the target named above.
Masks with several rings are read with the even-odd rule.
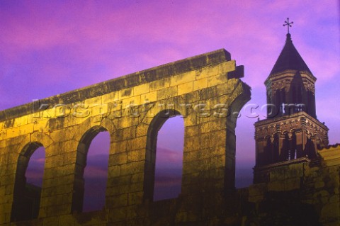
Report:
[[[77,147],[76,165],[74,169],[74,188],[72,197],[72,212],[81,213],[84,203],[84,169],[86,166],[87,152],[91,141],[99,132],[108,131],[101,125],[95,125],[81,136]]]

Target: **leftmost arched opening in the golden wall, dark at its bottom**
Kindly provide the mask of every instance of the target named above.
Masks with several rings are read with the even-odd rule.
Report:
[[[45,148],[39,142],[29,143],[18,159],[11,221],[38,218],[44,169]]]

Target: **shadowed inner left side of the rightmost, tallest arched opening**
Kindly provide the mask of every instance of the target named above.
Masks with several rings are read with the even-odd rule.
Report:
[[[147,145],[145,153],[145,179],[144,179],[144,198],[153,200],[154,195],[154,171],[156,164],[157,135],[162,125],[168,118],[181,115],[174,109],[166,109],[154,116],[147,130]],[[184,124],[185,125],[185,124]]]

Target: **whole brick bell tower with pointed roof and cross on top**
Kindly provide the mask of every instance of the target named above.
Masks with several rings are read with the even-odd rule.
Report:
[[[289,21],[285,22],[289,28]],[[265,180],[263,169],[317,159],[317,149],[328,145],[328,128],[317,120],[316,80],[288,30],[283,50],[264,82],[267,118],[255,123],[254,183]]]

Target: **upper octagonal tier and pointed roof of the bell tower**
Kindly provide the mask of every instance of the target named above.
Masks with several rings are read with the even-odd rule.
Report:
[[[315,78],[287,34],[276,64],[264,82],[267,90],[267,117],[278,118],[303,111],[317,118]]]

